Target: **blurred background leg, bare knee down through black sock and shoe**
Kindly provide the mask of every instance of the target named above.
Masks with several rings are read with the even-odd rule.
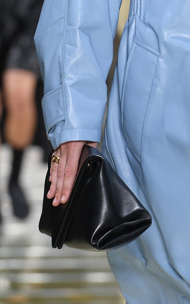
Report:
[[[8,185],[12,197],[13,212],[25,218],[29,206],[19,186],[19,173],[23,150],[32,143],[36,128],[37,78],[32,72],[7,69],[3,73],[3,98],[5,100],[5,140],[13,148],[12,172]]]

